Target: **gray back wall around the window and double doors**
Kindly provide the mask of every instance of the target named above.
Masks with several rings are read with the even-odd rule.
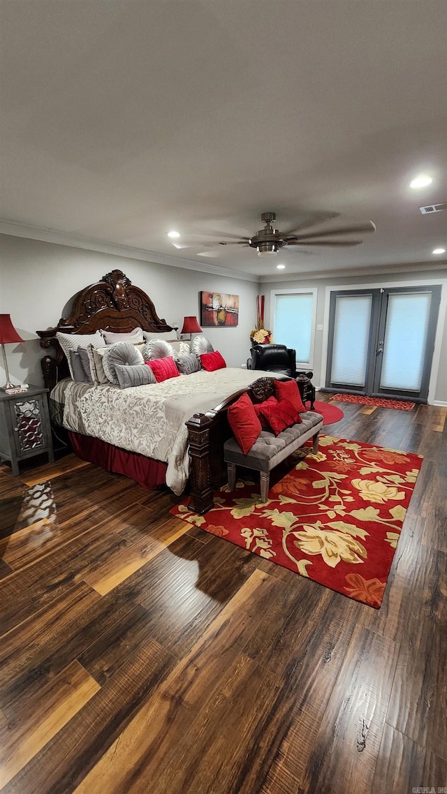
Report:
[[[315,347],[314,347],[314,384],[324,386],[326,383],[326,340],[327,340],[327,327],[325,322],[327,317],[325,315],[326,307],[326,287],[342,288],[348,285],[357,284],[371,284],[375,283],[378,286],[389,285],[395,282],[404,283],[421,283],[437,284],[445,282],[447,279],[447,269],[437,270],[430,272],[399,272],[399,273],[385,273],[385,274],[372,274],[368,273],[366,276],[340,276],[331,277],[326,279],[287,279],[283,281],[275,280],[272,282],[264,282],[259,286],[260,295],[265,295],[265,318],[266,322],[272,323],[272,307],[271,307],[271,292],[276,289],[301,289],[312,287],[317,289],[317,318],[316,324],[323,326],[322,330],[316,331],[315,334]],[[444,287],[444,291],[446,287]],[[298,320],[298,318],[297,318]],[[271,325],[268,326],[272,327]],[[440,317],[438,320],[438,347],[435,348],[434,356],[434,381],[433,386],[430,381],[430,403],[441,403],[447,405],[447,318],[445,313],[445,303],[442,303],[440,308]],[[280,340],[275,340],[280,341]]]

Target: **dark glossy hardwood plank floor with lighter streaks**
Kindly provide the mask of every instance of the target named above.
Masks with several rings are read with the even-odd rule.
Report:
[[[168,491],[71,454],[0,465],[2,792],[447,786],[447,409],[341,407],[326,434],[424,455],[379,611]]]

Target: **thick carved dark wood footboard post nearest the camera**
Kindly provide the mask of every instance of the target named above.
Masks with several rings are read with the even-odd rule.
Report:
[[[197,513],[206,513],[214,505],[210,486],[210,427],[212,419],[206,414],[194,414],[187,422],[191,457],[191,501]]]

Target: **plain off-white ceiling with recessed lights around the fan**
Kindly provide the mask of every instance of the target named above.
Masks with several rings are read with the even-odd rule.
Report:
[[[447,200],[444,0],[0,0],[0,10],[6,231],[264,280],[279,262],[281,278],[439,265],[447,212],[418,207]],[[420,172],[433,183],[412,191]],[[217,245],[255,233],[266,210],[279,229],[337,212],[313,231],[368,218],[377,231],[311,255]],[[170,229],[203,243],[177,250]]]

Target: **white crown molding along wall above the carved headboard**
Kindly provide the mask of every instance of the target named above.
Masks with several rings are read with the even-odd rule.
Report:
[[[259,276],[252,273],[238,271],[235,273],[229,268],[219,268],[214,264],[206,262],[196,262],[191,259],[177,259],[169,254],[146,251],[145,249],[133,248],[131,245],[118,245],[117,243],[107,243],[99,240],[88,240],[83,237],[71,237],[68,234],[53,231],[52,229],[38,229],[36,226],[26,226],[13,221],[6,221],[0,218],[0,233],[10,234],[12,237],[27,237],[30,240],[40,240],[56,245],[67,245],[69,248],[85,249],[87,251],[98,251],[112,256],[125,256],[127,259],[137,259],[153,264],[166,264],[170,268],[183,268],[184,270],[196,270],[201,273],[213,273],[214,276],[225,276],[230,279],[240,281],[259,282]]]

